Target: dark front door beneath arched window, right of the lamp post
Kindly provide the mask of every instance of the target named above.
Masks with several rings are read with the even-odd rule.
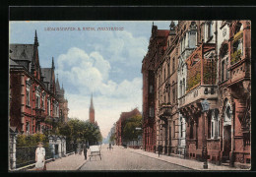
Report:
[[[224,158],[229,158],[231,151],[231,126],[224,126]]]

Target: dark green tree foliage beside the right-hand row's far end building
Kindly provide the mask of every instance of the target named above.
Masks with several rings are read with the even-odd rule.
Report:
[[[142,136],[142,130],[136,130],[136,128],[142,128],[141,115],[136,115],[125,120],[122,133],[124,141],[137,140],[138,136]]]

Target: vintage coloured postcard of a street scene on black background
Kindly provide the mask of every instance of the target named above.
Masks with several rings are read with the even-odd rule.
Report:
[[[10,21],[9,171],[251,168],[251,21]]]

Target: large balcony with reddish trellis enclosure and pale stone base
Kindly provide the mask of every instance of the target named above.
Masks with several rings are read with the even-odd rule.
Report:
[[[217,97],[217,62],[215,44],[203,43],[186,59],[187,87],[179,98],[179,106],[185,106],[196,100]]]

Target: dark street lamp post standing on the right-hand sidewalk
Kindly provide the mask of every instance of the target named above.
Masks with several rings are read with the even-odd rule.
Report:
[[[202,157],[204,160],[204,165],[203,168],[207,169],[208,168],[208,161],[207,161],[207,141],[206,141],[206,129],[205,129],[205,122],[207,120],[207,112],[209,111],[210,108],[210,103],[208,102],[207,99],[203,100],[201,102],[202,105],[202,112],[204,113],[203,117],[203,149],[202,149]]]

